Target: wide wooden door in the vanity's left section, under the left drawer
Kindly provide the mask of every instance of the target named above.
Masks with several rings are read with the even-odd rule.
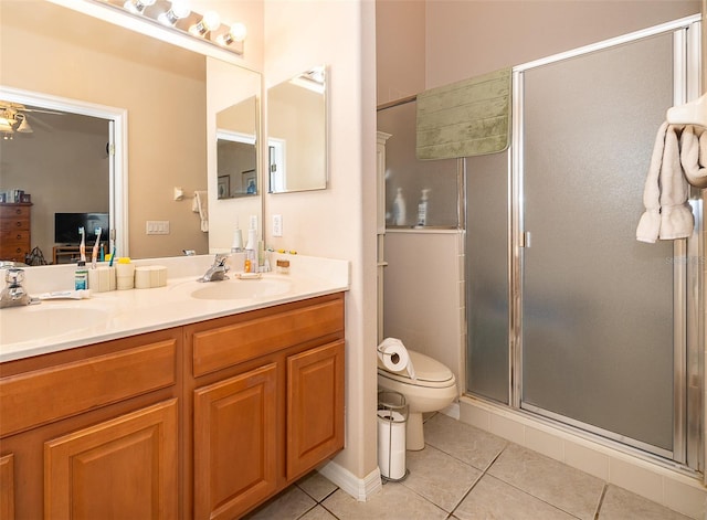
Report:
[[[177,400],[44,443],[46,519],[178,516]]]

